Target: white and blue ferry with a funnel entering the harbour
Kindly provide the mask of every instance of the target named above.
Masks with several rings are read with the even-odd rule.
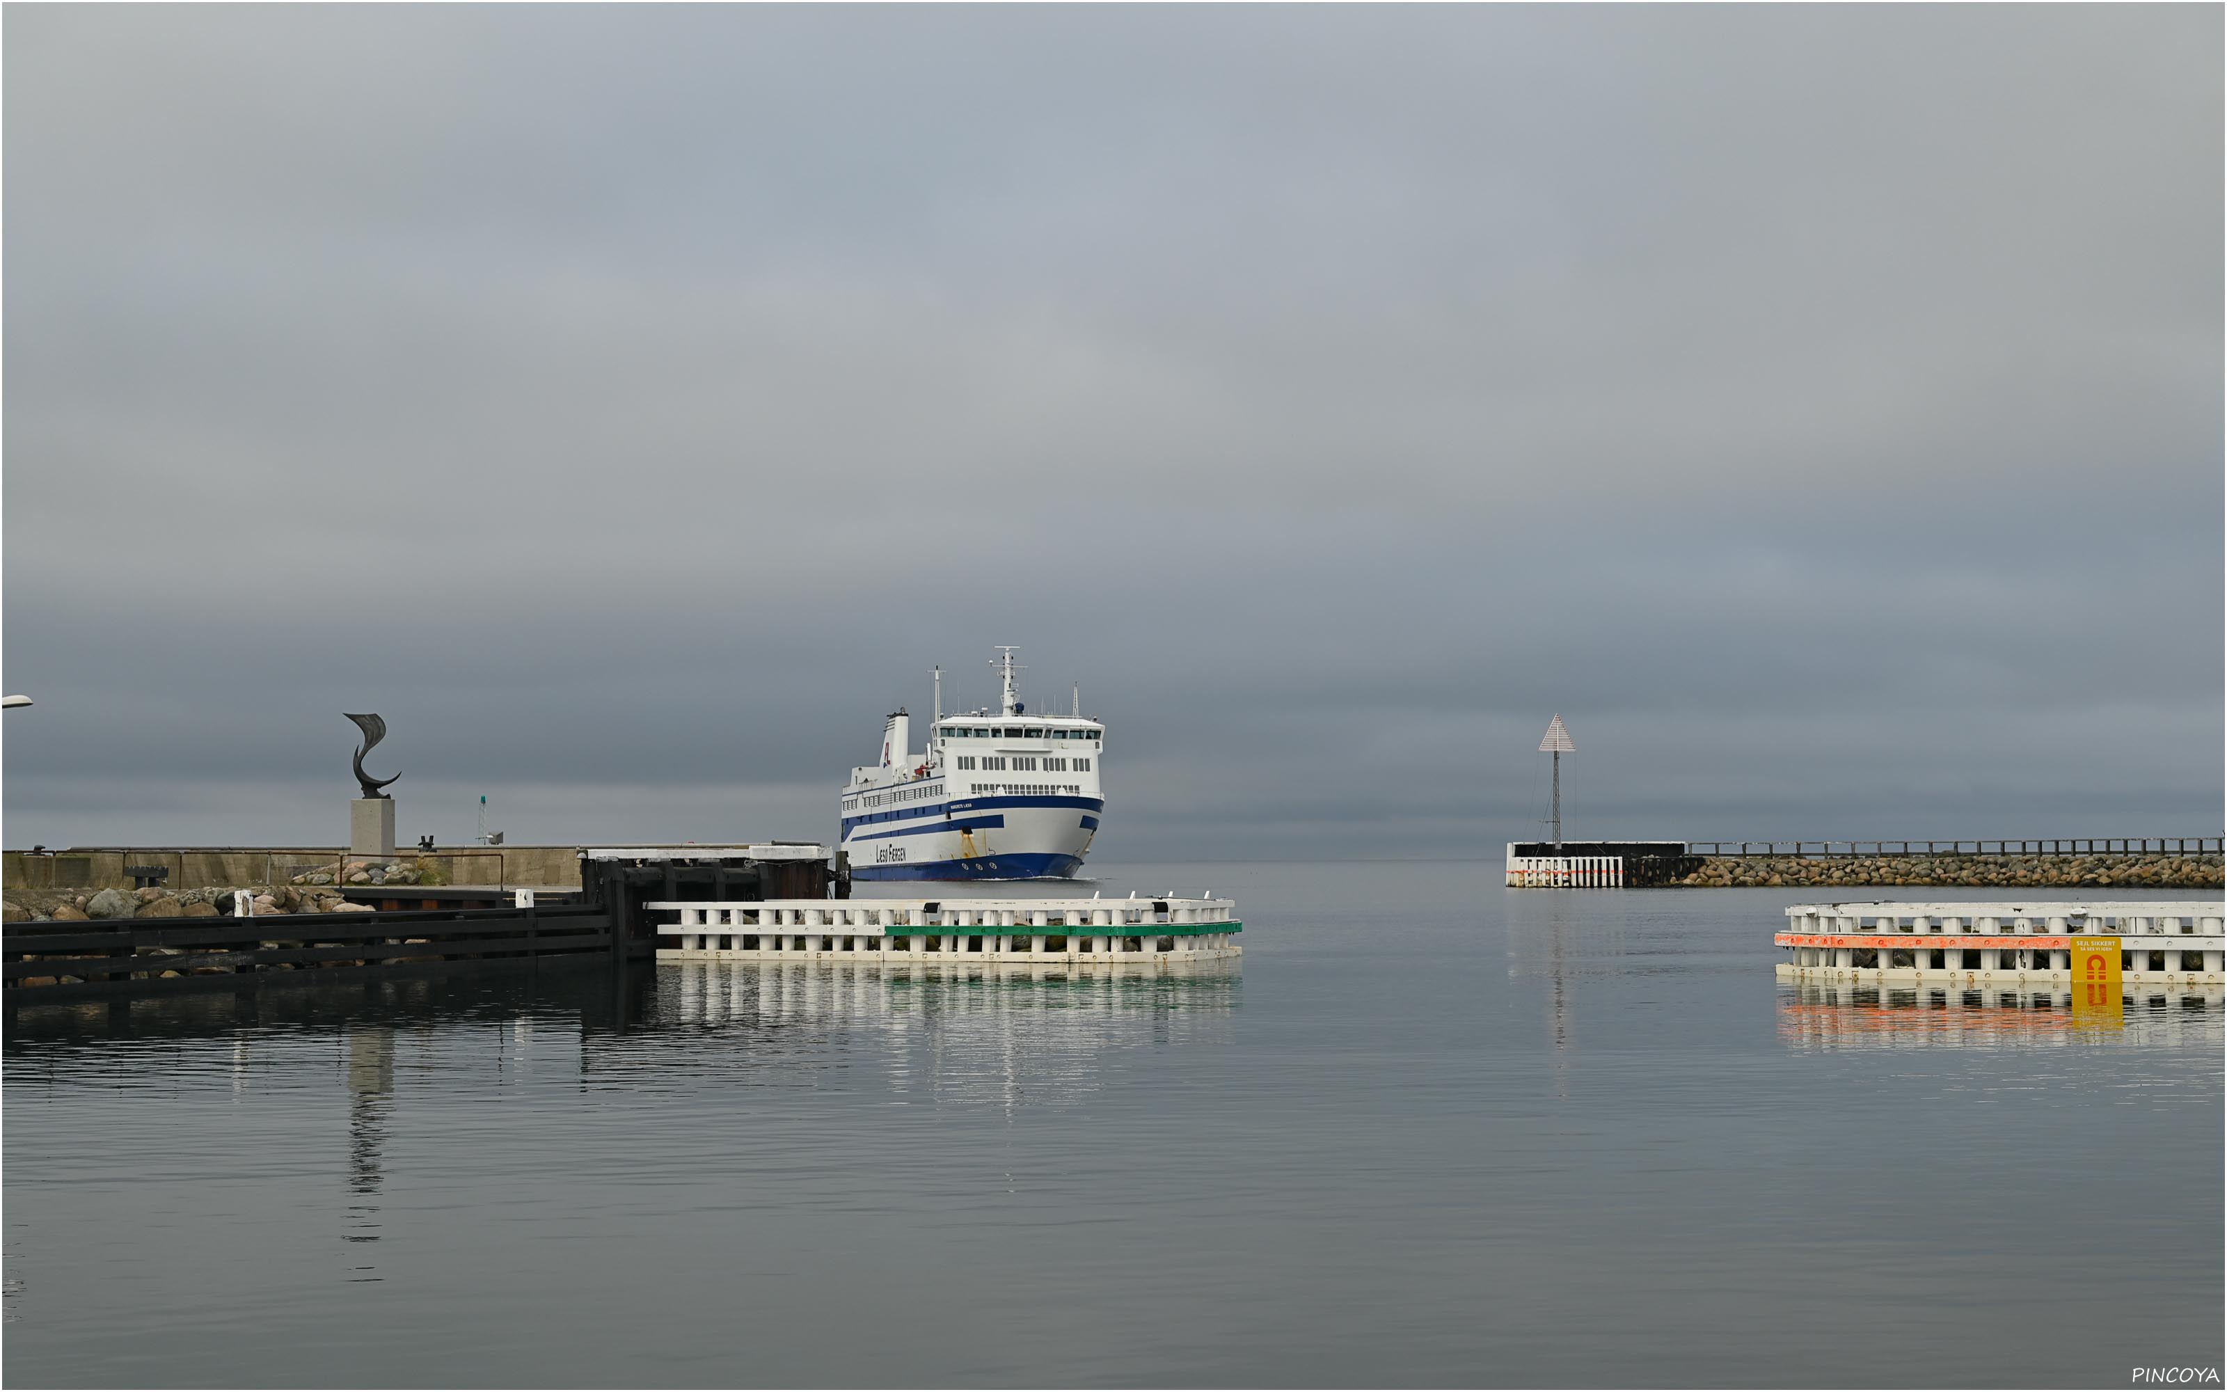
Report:
[[[1098,835],[1105,797],[1098,759],[1105,724],[1031,715],[1020,699],[1016,648],[991,659],[1004,686],[998,710],[935,710],[926,748],[913,717],[882,724],[882,762],[851,771],[840,846],[853,880],[1073,880]]]

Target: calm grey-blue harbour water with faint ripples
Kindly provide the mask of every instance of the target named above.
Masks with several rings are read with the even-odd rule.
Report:
[[[1793,891],[1105,866],[1234,969],[27,1011],[11,1385],[2127,1385],[2223,1356],[2223,1016],[1815,1004]],[[1949,891],[1902,898],[1951,898]],[[1978,898],[1978,895],[1964,895]]]

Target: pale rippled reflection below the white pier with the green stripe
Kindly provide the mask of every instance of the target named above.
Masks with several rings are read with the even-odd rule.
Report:
[[[583,1040],[583,1074],[824,1082],[873,1069],[893,1098],[1073,1105],[1120,1053],[1225,1045],[1234,962],[1196,967],[877,967],[661,962],[641,1022]]]

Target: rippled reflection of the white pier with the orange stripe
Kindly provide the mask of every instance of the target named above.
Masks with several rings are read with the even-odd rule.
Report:
[[[2118,1011],[2076,1011],[2069,991],[1779,987],[1779,1040],[1797,1049],[2218,1045],[2227,993],[2145,993]]]

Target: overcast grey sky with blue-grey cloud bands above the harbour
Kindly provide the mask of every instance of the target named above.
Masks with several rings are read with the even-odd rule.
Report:
[[[2220,831],[2218,7],[9,7],[4,840]]]

